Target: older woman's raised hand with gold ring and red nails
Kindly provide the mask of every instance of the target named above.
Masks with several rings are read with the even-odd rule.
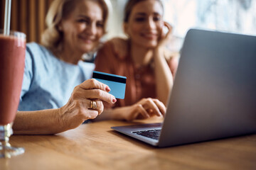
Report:
[[[117,99],[109,91],[110,87],[95,79],[76,86],[68,103],[58,111],[58,121],[63,129],[77,128],[85,120],[96,118],[104,109],[102,101],[115,103]],[[97,108],[91,107],[92,101],[96,102]]]

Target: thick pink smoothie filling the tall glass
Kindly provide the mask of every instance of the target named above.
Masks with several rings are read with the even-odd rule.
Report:
[[[0,34],[0,125],[14,121],[23,81],[26,40]]]

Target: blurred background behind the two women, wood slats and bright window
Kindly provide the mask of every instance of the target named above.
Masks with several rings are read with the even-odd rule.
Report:
[[[40,42],[45,16],[53,0],[12,0],[11,30],[27,35],[27,42]],[[124,36],[123,8],[126,0],[110,0],[112,15],[106,39]],[[0,0],[0,26],[4,28],[4,4]],[[164,0],[164,19],[174,26],[174,40],[182,42],[189,28],[223,30],[256,35],[256,0]]]

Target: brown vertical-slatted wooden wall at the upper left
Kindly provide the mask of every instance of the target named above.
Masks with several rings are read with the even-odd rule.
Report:
[[[26,33],[27,42],[40,42],[45,18],[53,0],[11,0],[11,30]],[[5,0],[0,0],[0,29],[4,28]]]

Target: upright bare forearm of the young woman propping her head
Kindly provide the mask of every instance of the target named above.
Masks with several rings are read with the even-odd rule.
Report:
[[[164,50],[156,50],[154,52],[154,60],[157,98],[166,105],[168,95],[173,86],[173,76],[164,57]]]

